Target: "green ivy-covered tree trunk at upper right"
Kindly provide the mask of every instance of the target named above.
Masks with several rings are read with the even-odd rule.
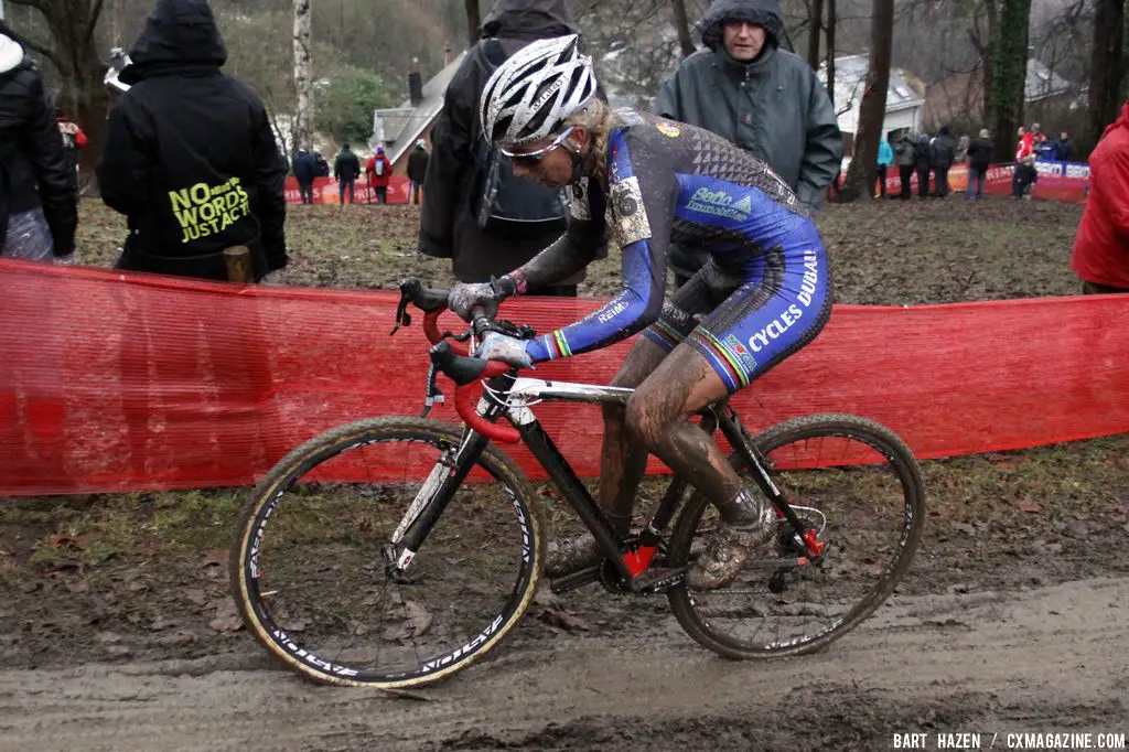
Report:
[[[992,88],[988,91],[992,156],[998,160],[1014,159],[1015,133],[1023,123],[1030,23],[1031,0],[1003,0],[992,35]]]

